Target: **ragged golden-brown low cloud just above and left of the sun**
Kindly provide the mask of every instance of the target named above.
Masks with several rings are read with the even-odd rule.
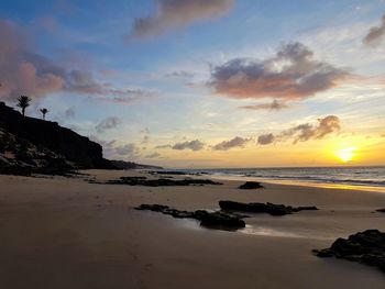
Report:
[[[324,136],[341,130],[340,119],[336,115],[328,115],[323,119],[318,119],[317,122],[317,124],[298,124],[292,129],[282,131],[277,135],[272,133],[260,135],[257,137],[257,143],[261,145],[267,145],[273,142],[283,142],[290,138],[293,140],[293,143],[296,144],[309,140],[321,140]]]

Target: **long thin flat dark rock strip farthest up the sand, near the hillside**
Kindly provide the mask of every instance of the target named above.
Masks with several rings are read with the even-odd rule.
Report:
[[[121,177],[116,180],[107,181],[109,185],[129,185],[129,186],[147,186],[147,187],[167,187],[167,186],[189,186],[189,185],[222,185],[210,179],[147,179],[146,177]]]

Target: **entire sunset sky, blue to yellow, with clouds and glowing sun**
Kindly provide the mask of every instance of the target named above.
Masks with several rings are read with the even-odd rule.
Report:
[[[0,84],[111,159],[385,165],[385,0],[2,1]]]

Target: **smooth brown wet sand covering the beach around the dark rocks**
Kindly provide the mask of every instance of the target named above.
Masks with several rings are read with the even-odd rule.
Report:
[[[97,180],[139,171],[86,171]],[[82,178],[0,176],[0,288],[385,288],[376,268],[321,259],[312,248],[366,229],[385,231],[385,193],[239,181],[130,187]],[[254,215],[239,232],[136,211],[141,203],[217,209],[219,200],[317,205]]]

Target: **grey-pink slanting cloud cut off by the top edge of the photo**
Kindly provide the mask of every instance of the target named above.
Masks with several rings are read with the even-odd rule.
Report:
[[[130,38],[147,38],[227,14],[234,0],[157,0],[157,13],[134,20]]]

